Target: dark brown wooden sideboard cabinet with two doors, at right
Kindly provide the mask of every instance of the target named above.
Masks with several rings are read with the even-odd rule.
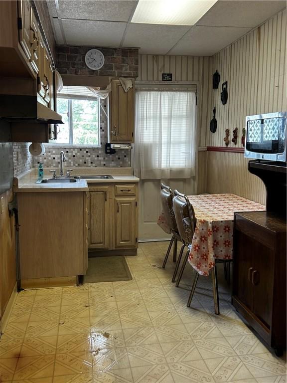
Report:
[[[234,214],[233,296],[237,311],[281,356],[286,348],[286,219]]]

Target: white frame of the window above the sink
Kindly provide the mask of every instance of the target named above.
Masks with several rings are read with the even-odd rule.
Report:
[[[66,99],[68,100],[68,122],[69,122],[69,142],[68,143],[60,143],[57,142],[57,140],[49,140],[49,143],[45,143],[44,146],[46,147],[65,147],[65,148],[101,148],[101,128],[100,128],[100,120],[101,120],[101,105],[100,105],[100,98],[95,97],[65,97],[64,95],[57,94],[57,98],[59,99]],[[73,142],[73,106],[72,101],[73,100],[92,100],[98,102],[98,138],[99,138],[99,144],[98,145],[91,145],[91,144],[74,144]],[[59,125],[59,128],[61,129],[61,126]]]

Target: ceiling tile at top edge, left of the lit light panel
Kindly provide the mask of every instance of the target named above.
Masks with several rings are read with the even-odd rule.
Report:
[[[85,20],[128,21],[134,0],[59,0],[59,17]]]

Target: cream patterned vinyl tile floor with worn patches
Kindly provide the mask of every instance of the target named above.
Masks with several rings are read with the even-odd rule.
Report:
[[[171,283],[168,242],[141,243],[127,257],[133,280],[18,294],[0,339],[0,382],[9,383],[284,383],[277,358],[231,306],[218,266],[220,315],[210,277],[187,264]]]

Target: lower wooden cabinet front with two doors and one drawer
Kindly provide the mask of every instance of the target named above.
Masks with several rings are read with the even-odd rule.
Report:
[[[138,226],[138,185],[89,185],[89,249],[136,249]]]

